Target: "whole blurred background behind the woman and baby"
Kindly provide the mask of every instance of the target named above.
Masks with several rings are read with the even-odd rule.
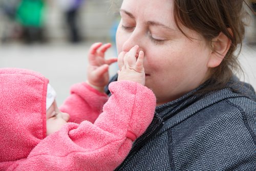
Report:
[[[256,5],[248,1],[239,77],[256,89]],[[113,3],[114,2],[114,3]],[[111,42],[106,58],[116,57],[115,32],[121,0],[0,0],[0,68],[38,71],[49,78],[57,103],[70,86],[87,78],[87,54],[93,42]],[[113,76],[118,67],[110,68]]]

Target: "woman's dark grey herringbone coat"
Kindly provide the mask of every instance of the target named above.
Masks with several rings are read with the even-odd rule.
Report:
[[[255,91],[236,78],[229,85],[158,106],[116,170],[256,170]]]

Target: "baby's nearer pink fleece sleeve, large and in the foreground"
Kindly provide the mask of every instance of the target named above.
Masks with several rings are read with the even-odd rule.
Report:
[[[14,170],[114,170],[151,123],[156,97],[130,81],[110,84],[112,96],[95,123],[67,123],[42,140]]]

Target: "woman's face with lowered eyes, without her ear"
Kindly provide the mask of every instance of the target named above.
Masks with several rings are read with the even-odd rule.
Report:
[[[145,86],[157,103],[179,98],[208,77],[211,49],[193,30],[177,28],[170,0],[124,0],[116,34],[118,53],[138,45],[144,52]]]

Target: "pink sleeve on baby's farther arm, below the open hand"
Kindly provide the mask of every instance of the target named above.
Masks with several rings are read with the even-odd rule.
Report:
[[[87,83],[77,83],[71,87],[70,96],[60,106],[60,111],[70,114],[70,122],[88,120],[94,123],[108,100],[105,93],[91,88]]]

